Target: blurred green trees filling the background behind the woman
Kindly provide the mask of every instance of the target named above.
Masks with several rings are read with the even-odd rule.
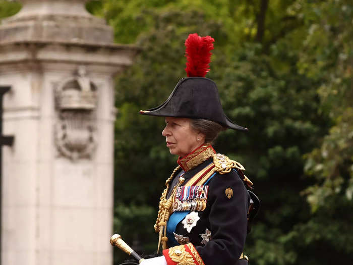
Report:
[[[228,118],[214,148],[246,168],[261,200],[245,254],[253,265],[353,261],[353,5],[348,0],[101,0],[86,3],[140,47],[115,78],[113,231],[137,252],[153,225],[169,154],[155,107],[186,76],[185,39],[215,39],[211,71]],[[0,0],[0,18],[21,4]],[[104,239],[105,240],[105,239]],[[106,238],[107,242],[109,238]],[[114,250],[114,264],[127,258]]]

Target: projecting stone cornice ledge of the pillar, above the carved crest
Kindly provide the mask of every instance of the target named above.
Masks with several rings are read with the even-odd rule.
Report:
[[[13,41],[0,43],[0,65],[18,62],[62,62],[129,66],[139,50],[135,45],[113,43]]]

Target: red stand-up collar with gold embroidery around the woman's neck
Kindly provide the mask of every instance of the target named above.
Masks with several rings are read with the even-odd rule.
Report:
[[[209,143],[203,144],[184,157],[178,158],[178,164],[187,172],[208,160],[216,151]]]

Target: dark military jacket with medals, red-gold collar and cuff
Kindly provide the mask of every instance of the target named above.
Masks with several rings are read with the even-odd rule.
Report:
[[[163,250],[167,264],[236,264],[245,244],[250,202],[244,184],[246,177],[240,172],[242,166],[215,154],[210,145],[203,145],[180,158],[178,164],[181,169],[174,174],[166,194],[166,198],[173,196],[166,233],[169,248]],[[212,168],[215,164],[218,165],[216,170]],[[208,168],[212,168],[213,173],[204,179],[204,185],[190,183]],[[185,181],[172,194],[180,176]],[[206,193],[207,197],[201,209],[193,198],[202,192],[201,196]]]

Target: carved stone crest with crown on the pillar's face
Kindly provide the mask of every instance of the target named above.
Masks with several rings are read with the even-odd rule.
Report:
[[[96,145],[95,110],[97,88],[84,67],[55,88],[58,123],[55,145],[59,156],[75,161],[91,158]]]

